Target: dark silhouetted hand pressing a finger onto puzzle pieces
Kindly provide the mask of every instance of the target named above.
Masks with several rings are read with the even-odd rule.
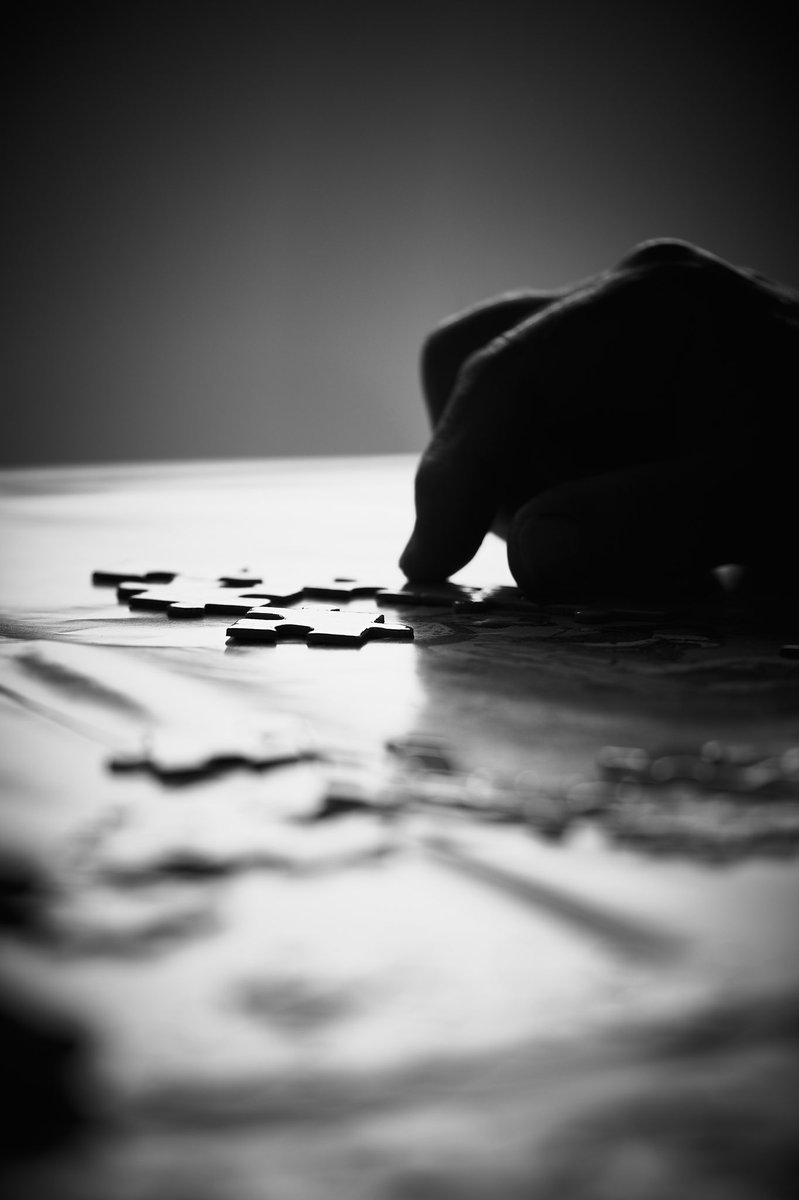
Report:
[[[488,529],[534,598],[794,560],[799,295],[674,240],[595,278],[446,322],[422,354],[434,426],[410,580]]]

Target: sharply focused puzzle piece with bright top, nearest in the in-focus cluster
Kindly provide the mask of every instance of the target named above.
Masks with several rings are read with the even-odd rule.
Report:
[[[275,646],[300,640],[307,646],[362,646],[364,642],[413,641],[410,625],[386,622],[378,612],[342,612],[337,608],[253,608],[228,628],[234,642]]]

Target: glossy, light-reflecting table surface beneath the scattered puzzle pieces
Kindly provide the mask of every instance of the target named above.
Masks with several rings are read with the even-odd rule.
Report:
[[[413,642],[235,646],[229,618],[91,583],[125,560],[391,584],[413,467],[0,474],[0,862],[38,896],[0,970],[78,1031],[85,1117],[13,1158],[8,1195],[783,1194],[792,803],[786,836],[725,842],[771,809],[715,794],[710,841],[659,836],[656,814],[636,841],[567,797],[606,745],[795,745],[785,631],[611,644],[569,616],[397,607]],[[457,578],[510,584],[501,544]],[[256,725],[312,756],[179,784],[109,769],[146,731]],[[386,750],[417,736],[449,748],[455,806]],[[319,820],[342,778],[365,803]],[[371,803],[386,779],[407,803]],[[492,816],[511,793],[528,820]]]

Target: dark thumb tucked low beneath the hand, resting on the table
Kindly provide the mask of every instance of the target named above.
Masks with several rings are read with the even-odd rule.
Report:
[[[529,596],[572,599],[745,562],[745,474],[726,456],[696,455],[559,485],[516,512],[511,572]]]

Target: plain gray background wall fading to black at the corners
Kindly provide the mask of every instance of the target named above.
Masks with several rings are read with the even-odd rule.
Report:
[[[425,331],[656,234],[799,284],[779,6],[4,6],[5,463],[405,451]]]

